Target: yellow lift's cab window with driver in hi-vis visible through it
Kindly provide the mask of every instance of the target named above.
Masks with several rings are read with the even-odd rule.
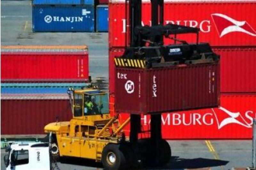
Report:
[[[108,94],[85,95],[84,115],[101,115],[109,113]]]

